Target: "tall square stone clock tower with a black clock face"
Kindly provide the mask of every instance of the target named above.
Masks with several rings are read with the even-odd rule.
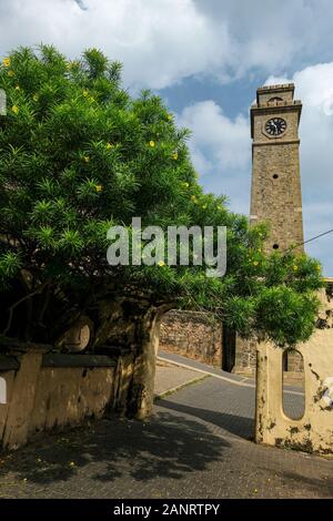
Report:
[[[294,84],[262,86],[251,106],[252,187],[250,223],[266,222],[266,252],[302,244],[299,124],[302,103]],[[299,246],[297,252],[304,251]]]

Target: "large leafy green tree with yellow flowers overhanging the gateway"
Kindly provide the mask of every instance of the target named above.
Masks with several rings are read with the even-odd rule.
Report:
[[[240,334],[281,346],[309,338],[319,264],[264,255],[265,228],[250,229],[223,196],[203,193],[189,132],[160,98],[130,96],[120,73],[98,50],[69,61],[47,45],[13,50],[0,67],[2,336],[57,344],[79,314],[98,323],[99,303],[125,289],[149,305],[211,310]],[[163,229],[225,225],[226,275],[161,262],[109,266],[107,232],[130,229],[133,216]],[[91,348],[100,341],[95,334]]]

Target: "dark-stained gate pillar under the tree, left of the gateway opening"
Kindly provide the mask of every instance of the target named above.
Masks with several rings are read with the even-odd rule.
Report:
[[[113,410],[122,416],[143,419],[152,411],[161,318],[171,307],[135,298],[100,305],[95,349],[121,348]]]

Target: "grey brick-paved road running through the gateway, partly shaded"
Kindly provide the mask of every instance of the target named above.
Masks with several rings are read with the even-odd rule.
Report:
[[[214,377],[0,460],[1,498],[333,498],[333,461],[256,446],[254,392]]]

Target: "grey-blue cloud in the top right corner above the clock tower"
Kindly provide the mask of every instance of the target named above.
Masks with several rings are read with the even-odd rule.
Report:
[[[332,0],[194,0],[214,28],[226,21],[231,76],[250,70],[281,74],[295,60],[327,61],[333,43]]]

